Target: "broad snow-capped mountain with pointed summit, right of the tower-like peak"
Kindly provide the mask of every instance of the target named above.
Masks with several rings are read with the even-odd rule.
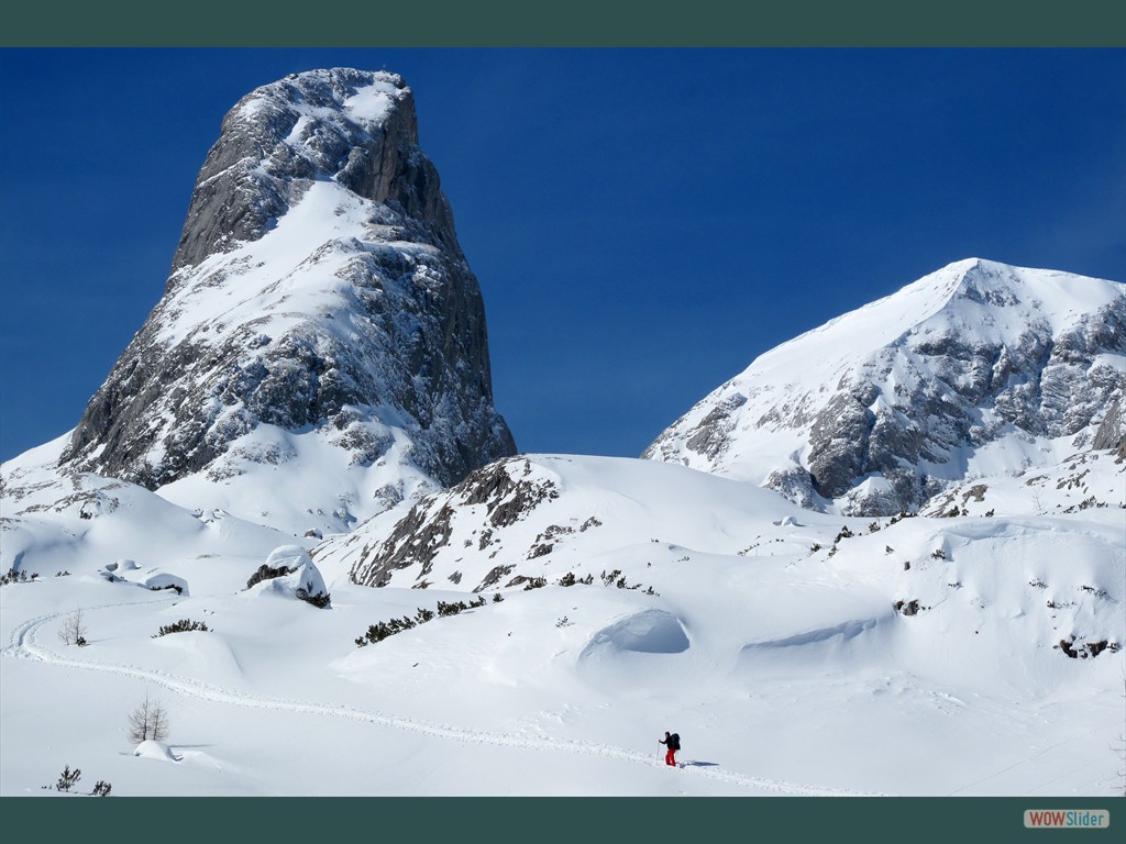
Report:
[[[969,259],[756,359],[644,457],[890,515],[1124,448],[1126,285]]]

